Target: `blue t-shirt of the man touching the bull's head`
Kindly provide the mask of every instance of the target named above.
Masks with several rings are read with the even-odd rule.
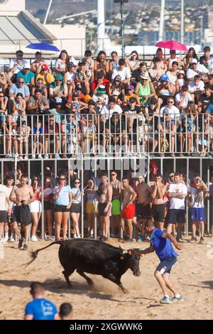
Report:
[[[155,253],[158,255],[160,261],[165,257],[177,257],[178,254],[173,249],[173,245],[170,239],[163,238],[165,232],[155,229],[151,234],[151,245],[155,249]]]

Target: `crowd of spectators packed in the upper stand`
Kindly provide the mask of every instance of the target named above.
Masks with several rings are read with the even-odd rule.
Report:
[[[86,50],[77,61],[62,50],[54,68],[40,52],[29,63],[18,50],[0,77],[0,153],[67,158],[124,146],[129,154],[209,156],[212,73],[208,46],[200,59],[194,48],[182,58],[158,48],[150,65],[136,51],[94,59]]]

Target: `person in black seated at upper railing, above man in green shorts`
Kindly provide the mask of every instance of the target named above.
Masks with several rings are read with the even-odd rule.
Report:
[[[113,112],[111,118],[107,119],[105,124],[105,150],[109,145],[111,146],[122,146],[126,144],[126,131],[125,131],[124,119],[121,118],[118,112]]]

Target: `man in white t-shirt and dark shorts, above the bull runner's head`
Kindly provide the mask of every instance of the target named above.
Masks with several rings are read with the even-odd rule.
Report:
[[[177,241],[181,239],[182,224],[185,223],[185,198],[187,196],[187,186],[180,182],[181,174],[176,172],[174,183],[168,188],[170,208],[168,211],[168,233],[172,232],[173,224],[178,223]]]

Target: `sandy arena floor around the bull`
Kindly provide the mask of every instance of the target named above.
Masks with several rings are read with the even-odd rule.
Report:
[[[102,276],[93,276],[94,291],[89,291],[87,282],[77,273],[72,274],[73,289],[67,290],[58,260],[58,245],[53,245],[38,254],[35,262],[29,253],[17,249],[16,243],[4,246],[4,259],[0,277],[0,319],[23,319],[25,305],[31,300],[29,286],[32,281],[45,285],[46,298],[57,306],[67,301],[75,310],[74,319],[212,319],[213,318],[213,239],[205,238],[206,244],[184,242],[179,251],[178,262],[173,267],[171,280],[182,293],[184,301],[162,306],[160,288],[153,272],[158,257],[148,254],[141,258],[141,276],[135,277],[126,271],[122,276],[124,294]],[[111,239],[111,244],[132,247],[148,247],[148,243],[125,244]],[[209,244],[210,243],[210,244]],[[35,250],[47,242],[30,242],[29,249]]]

